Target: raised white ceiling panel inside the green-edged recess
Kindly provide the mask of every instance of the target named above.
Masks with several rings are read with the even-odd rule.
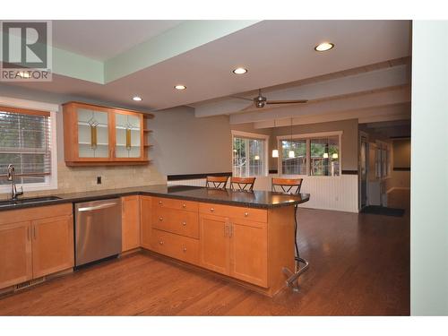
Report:
[[[105,61],[179,23],[179,20],[56,20],[53,46]]]

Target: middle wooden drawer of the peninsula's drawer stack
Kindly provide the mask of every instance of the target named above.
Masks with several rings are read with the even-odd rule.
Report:
[[[153,228],[186,237],[199,238],[197,212],[158,208],[154,211],[152,223]]]

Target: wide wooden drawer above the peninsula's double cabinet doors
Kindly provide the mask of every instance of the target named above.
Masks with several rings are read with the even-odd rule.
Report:
[[[213,203],[199,203],[199,212],[228,218],[261,221],[263,223],[268,221],[268,212],[264,209],[245,208],[240,206]]]

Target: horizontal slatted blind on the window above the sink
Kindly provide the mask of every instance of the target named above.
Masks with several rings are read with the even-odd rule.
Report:
[[[0,106],[0,185],[13,164],[17,183],[46,181],[51,174],[50,114]]]

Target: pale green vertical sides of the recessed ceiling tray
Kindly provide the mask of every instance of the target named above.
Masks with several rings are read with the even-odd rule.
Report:
[[[52,71],[82,81],[106,84],[215,39],[220,39],[237,30],[245,29],[256,22],[259,21],[194,20],[182,22],[106,62],[52,47]],[[19,39],[14,36],[10,38]],[[2,61],[2,55],[0,55],[0,61]]]

